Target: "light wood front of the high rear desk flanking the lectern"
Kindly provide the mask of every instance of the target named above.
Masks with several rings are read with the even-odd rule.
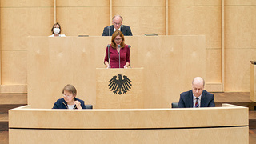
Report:
[[[78,98],[95,104],[95,70],[105,67],[109,42],[110,37],[30,38],[28,103],[50,108],[62,98],[62,87],[71,83],[79,86]],[[145,68],[146,108],[169,107],[182,91],[190,90],[195,76],[206,77],[204,36],[134,36],[126,42],[132,45],[133,67]]]

